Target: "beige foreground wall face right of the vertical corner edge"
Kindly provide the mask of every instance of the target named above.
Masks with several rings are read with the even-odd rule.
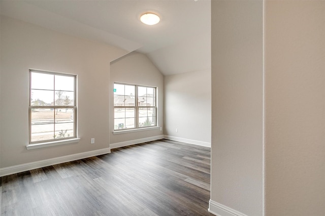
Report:
[[[265,4],[265,215],[325,215],[325,2]]]

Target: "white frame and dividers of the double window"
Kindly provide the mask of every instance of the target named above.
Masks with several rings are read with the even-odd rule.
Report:
[[[131,127],[131,128],[123,128],[123,129],[115,129],[113,131],[113,134],[119,134],[119,133],[126,133],[126,132],[136,132],[136,131],[143,131],[143,130],[147,130],[147,129],[155,129],[158,128],[157,126],[157,87],[152,87],[149,85],[141,85],[141,84],[131,84],[131,83],[123,83],[123,82],[114,82],[114,84],[122,84],[122,85],[133,85],[135,87],[135,106],[115,106],[113,110],[115,110],[115,108],[134,108],[135,109],[135,127]],[[155,106],[139,106],[138,103],[138,87],[144,87],[144,88],[153,88],[154,89],[154,104]],[[113,88],[114,89],[114,88]],[[113,94],[114,95],[114,94]],[[124,95],[125,96],[125,95]],[[114,96],[113,96],[113,101],[114,101]],[[113,102],[114,104],[114,102]],[[149,125],[149,126],[139,126],[139,108],[154,108],[154,112],[155,112],[155,119],[154,125]],[[115,111],[114,111],[114,121],[115,121]]]

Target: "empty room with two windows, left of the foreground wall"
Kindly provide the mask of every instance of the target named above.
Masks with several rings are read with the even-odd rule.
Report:
[[[210,10],[1,1],[2,215],[211,214]]]

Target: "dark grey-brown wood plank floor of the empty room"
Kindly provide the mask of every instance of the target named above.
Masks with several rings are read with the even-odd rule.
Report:
[[[210,148],[165,139],[0,180],[1,215],[212,215]]]

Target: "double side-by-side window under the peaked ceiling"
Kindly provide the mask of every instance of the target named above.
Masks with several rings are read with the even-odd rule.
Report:
[[[114,131],[156,126],[156,88],[114,83]]]

